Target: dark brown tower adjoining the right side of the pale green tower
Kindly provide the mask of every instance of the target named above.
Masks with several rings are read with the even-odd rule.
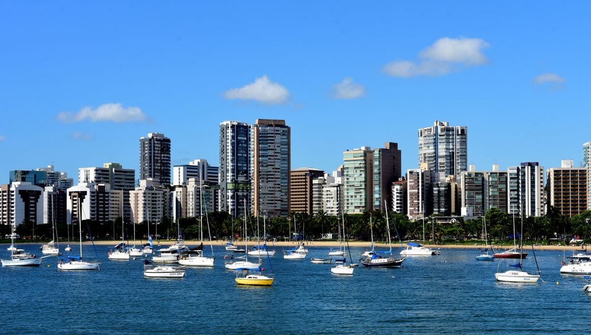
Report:
[[[386,210],[384,201],[392,208],[392,183],[401,177],[401,159],[397,143],[385,142],[384,148],[374,149],[374,210]]]

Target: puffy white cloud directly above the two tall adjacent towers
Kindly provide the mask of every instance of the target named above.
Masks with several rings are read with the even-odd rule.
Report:
[[[226,99],[255,100],[268,105],[285,103],[290,97],[285,87],[280,83],[271,82],[265,75],[255,79],[254,83],[237,89],[230,89],[224,93]]]

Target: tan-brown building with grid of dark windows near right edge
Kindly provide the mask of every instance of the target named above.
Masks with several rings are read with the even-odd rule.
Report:
[[[550,206],[564,216],[587,210],[587,168],[573,167],[573,161],[563,161],[560,168],[549,168],[547,185]]]

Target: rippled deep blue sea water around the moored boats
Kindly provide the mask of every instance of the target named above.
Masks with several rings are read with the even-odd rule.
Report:
[[[351,276],[312,264],[330,249],[308,247],[303,260],[283,259],[280,247],[270,264],[263,258],[272,287],[237,285],[222,246],[213,247],[214,268],[189,267],[183,279],[144,278],[141,258],[109,261],[107,246],[96,246],[100,271],[61,271],[55,257],[0,268],[0,334],[582,333],[590,324],[591,295],[582,276],[558,272],[562,251],[536,252],[546,283],[509,284],[495,281],[499,261],[476,261],[475,249],[410,256],[394,269],[359,265]],[[361,251],[350,249],[353,261]],[[529,253],[524,270],[535,274]]]

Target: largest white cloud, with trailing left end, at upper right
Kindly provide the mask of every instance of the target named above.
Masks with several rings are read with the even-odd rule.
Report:
[[[480,38],[443,37],[418,55],[422,61],[392,61],[384,66],[384,72],[393,77],[443,76],[463,67],[478,66],[487,62],[482,53],[490,46]]]

